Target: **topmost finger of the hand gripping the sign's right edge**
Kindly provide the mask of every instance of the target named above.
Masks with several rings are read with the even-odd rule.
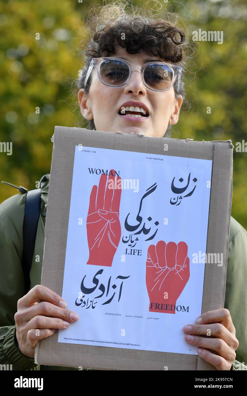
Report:
[[[204,314],[201,314],[195,321],[196,324],[207,324],[207,323],[218,323],[218,322],[222,322],[223,326],[225,326],[231,333],[233,333],[234,335],[236,334],[230,312],[226,308],[207,311]]]

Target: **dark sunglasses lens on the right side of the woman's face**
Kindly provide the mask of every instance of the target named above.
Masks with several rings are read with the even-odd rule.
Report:
[[[166,89],[172,83],[173,70],[167,65],[148,65],[144,70],[144,80],[150,88]]]

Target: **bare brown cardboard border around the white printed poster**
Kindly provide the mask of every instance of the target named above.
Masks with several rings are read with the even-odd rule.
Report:
[[[231,141],[198,142],[55,127],[41,284],[62,294],[75,145],[213,161],[206,253],[222,252],[222,267],[205,265],[202,312],[224,307],[232,202]],[[164,151],[169,143],[168,151]],[[224,191],[224,194],[222,194]],[[220,195],[220,200],[218,196]],[[57,221],[59,219],[59,227]],[[222,232],[226,230],[226,232]],[[51,264],[52,263],[52,264]],[[58,343],[58,331],[37,342],[35,363],[102,370],[216,370],[197,355]],[[120,358],[121,356],[121,358]]]

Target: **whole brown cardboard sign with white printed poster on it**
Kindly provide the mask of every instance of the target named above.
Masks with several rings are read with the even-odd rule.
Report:
[[[230,141],[55,127],[41,284],[79,320],[35,362],[214,370],[183,326],[224,307],[232,170]]]

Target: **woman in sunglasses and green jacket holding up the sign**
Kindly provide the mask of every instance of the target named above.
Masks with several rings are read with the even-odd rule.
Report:
[[[93,22],[97,22],[97,31],[92,28],[96,26]],[[135,8],[126,13],[119,3],[103,7],[100,15],[88,25],[93,34],[76,88],[88,129],[167,136],[170,127],[178,122],[185,98],[179,71],[179,67],[185,66],[184,32],[168,20],[152,17],[146,10],[142,13]],[[106,58],[105,67],[108,65],[111,69],[107,78],[97,69],[98,63],[90,67],[92,58],[101,57]],[[163,65],[158,68],[164,72],[163,76],[152,74],[153,69],[157,70],[157,62]],[[121,74],[117,74],[119,70]],[[46,175],[41,184],[41,215],[30,272],[31,289],[27,294],[21,269],[25,194],[17,194],[0,205],[0,255],[5,259],[0,288],[0,364],[12,364],[13,369],[69,369],[37,366],[33,360],[39,339],[49,337],[55,329],[73,326],[78,320],[77,314],[66,308],[59,295],[40,286],[42,264],[35,258],[43,256],[48,184],[49,175]],[[235,360],[238,346],[241,359],[246,353],[247,312],[239,315],[239,301],[235,297],[239,288],[243,299],[246,297],[245,257],[247,233],[231,219],[225,308],[204,312],[196,324],[188,324],[183,329],[185,340],[198,346],[199,356],[218,370],[247,369]],[[242,279],[240,284],[236,283],[238,278]],[[241,342],[236,338],[234,326]],[[201,337],[207,329],[211,329],[211,337]]]

